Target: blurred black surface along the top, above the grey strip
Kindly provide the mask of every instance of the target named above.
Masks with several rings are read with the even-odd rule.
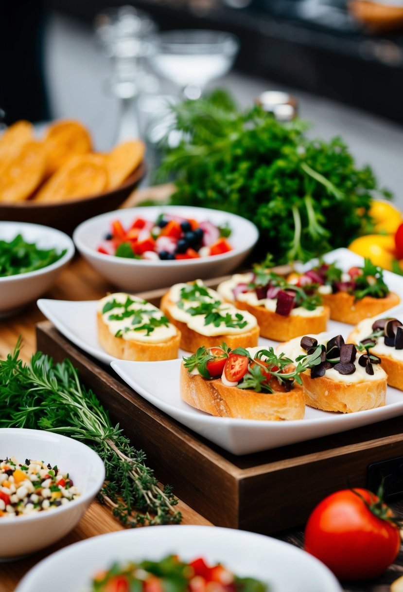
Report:
[[[226,0],[248,2],[248,0]],[[100,0],[48,0],[51,9],[92,25]],[[109,0],[109,6],[122,2]],[[139,0],[159,27],[216,28],[242,42],[236,69],[287,83],[403,123],[403,35],[374,33],[343,0]]]

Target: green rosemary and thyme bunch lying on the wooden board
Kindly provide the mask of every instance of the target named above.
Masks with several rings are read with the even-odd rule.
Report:
[[[0,427],[26,427],[82,440],[105,463],[100,500],[126,526],[178,523],[171,488],[161,490],[145,454],[134,449],[95,393],[80,384],[66,359],[54,364],[41,352],[19,359],[20,343],[0,361]]]

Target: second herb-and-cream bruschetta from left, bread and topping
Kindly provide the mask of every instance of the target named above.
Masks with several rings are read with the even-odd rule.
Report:
[[[258,345],[256,318],[223,303],[219,294],[198,279],[175,284],[161,300],[161,310],[181,332],[180,346],[194,352],[201,346],[212,348],[225,341],[230,348]]]

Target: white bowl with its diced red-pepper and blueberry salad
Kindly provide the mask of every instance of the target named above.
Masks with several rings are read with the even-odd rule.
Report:
[[[227,212],[150,206],[90,218],[73,240],[111,284],[144,291],[229,274],[251,252],[258,230]]]

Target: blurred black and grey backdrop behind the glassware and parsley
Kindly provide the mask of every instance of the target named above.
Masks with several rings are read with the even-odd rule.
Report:
[[[290,93],[297,98],[300,115],[313,123],[311,134],[325,139],[343,136],[358,162],[370,163],[403,205],[401,0],[130,4],[150,15],[154,31],[209,29],[235,34],[239,51],[232,69],[206,81],[206,88],[225,87],[241,105],[250,105],[264,91]],[[164,109],[164,98],[178,98],[184,83],[143,65],[142,87],[137,88],[136,79],[130,81],[133,88],[122,86],[119,76],[124,77],[125,65],[122,60],[120,66],[116,63],[116,46],[108,38],[110,30],[103,27],[111,15],[106,9],[118,7],[122,2],[116,0],[4,2],[0,106],[7,123],[18,118],[77,118],[92,131],[96,147],[106,150],[135,123],[131,97],[136,95],[139,133],[144,136],[146,128],[149,133],[150,121]],[[144,22],[142,26],[147,41],[153,27],[148,30]],[[147,53],[150,47],[147,43],[144,47]],[[126,46],[122,51],[137,49]],[[206,56],[210,66],[211,59]]]

